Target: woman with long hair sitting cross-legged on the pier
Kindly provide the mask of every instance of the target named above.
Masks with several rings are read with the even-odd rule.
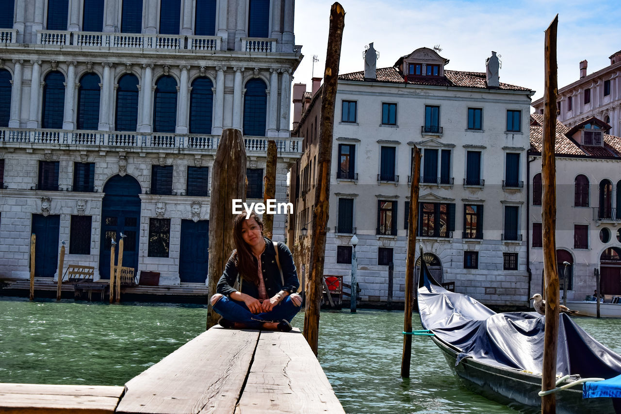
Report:
[[[233,239],[236,250],[211,298],[215,312],[222,315],[220,325],[290,331],[302,297],[294,293],[300,283],[289,248],[263,236],[263,222],[255,212],[248,219],[245,213],[235,217]],[[238,275],[240,289],[236,290]]]

